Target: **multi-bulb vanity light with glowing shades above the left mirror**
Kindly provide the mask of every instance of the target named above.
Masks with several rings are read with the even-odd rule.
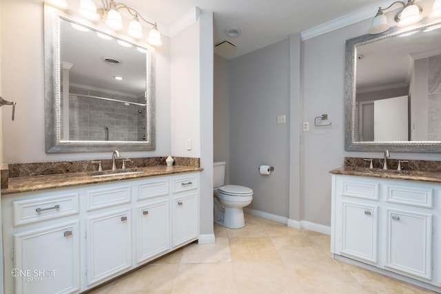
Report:
[[[125,5],[124,3],[119,3],[114,0],[100,0],[103,8],[96,8],[96,3],[94,0],[80,0],[79,4],[79,14],[90,21],[100,20],[105,22],[113,30],[123,30],[123,20],[121,17],[120,10],[127,10],[127,12],[133,17],[132,21],[129,23],[129,28],[127,33],[130,34],[134,39],[141,39],[143,37],[143,29],[140,19],[149,25],[152,25],[152,29],[149,32],[147,42],[150,45],[161,46],[161,33],[158,30],[156,23],[147,21],[139,12],[134,8]],[[46,0],[52,6],[57,6],[58,8],[66,9],[68,8],[68,3],[66,0]]]

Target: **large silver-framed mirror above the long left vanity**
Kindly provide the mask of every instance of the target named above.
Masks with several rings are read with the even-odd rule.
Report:
[[[45,6],[47,153],[155,149],[154,49]]]

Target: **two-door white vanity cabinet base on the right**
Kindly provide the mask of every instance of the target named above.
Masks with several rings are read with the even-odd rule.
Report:
[[[435,183],[333,174],[331,253],[440,287],[440,197]]]

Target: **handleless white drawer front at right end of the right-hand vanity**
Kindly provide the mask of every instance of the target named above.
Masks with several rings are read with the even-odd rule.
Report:
[[[415,184],[412,187],[401,185],[386,186],[386,202],[433,208],[433,188]]]

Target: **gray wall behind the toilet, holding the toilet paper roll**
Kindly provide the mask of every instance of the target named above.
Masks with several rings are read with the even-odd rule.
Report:
[[[289,214],[289,41],[238,57],[229,72],[229,183],[253,189],[250,209]],[[277,124],[278,114],[287,123]],[[269,176],[258,172],[271,165]]]

